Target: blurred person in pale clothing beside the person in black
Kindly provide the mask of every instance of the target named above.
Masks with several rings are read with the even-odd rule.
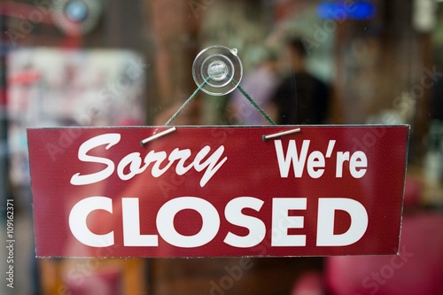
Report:
[[[266,50],[264,58],[251,74],[240,84],[246,93],[260,105],[268,108],[269,101],[280,82],[277,74],[278,58],[273,50]],[[267,125],[267,120],[256,110],[247,98],[236,89],[229,103],[229,116],[238,124]],[[229,120],[232,121],[232,120]]]

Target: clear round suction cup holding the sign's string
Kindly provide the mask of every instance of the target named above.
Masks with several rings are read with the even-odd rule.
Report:
[[[192,77],[197,86],[213,96],[229,94],[242,80],[243,66],[237,49],[215,45],[198,53],[192,65]]]

